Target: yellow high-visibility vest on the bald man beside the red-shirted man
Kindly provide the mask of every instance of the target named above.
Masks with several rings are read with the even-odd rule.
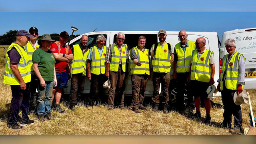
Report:
[[[83,54],[79,44],[75,44],[74,48],[74,59],[71,63],[71,74],[83,73],[86,75],[86,60],[89,54],[89,50]]]

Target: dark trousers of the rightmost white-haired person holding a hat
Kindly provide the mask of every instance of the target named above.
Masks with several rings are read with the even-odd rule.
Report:
[[[222,103],[224,105],[223,124],[231,125],[232,114],[234,116],[234,127],[242,127],[242,110],[240,105],[234,103],[234,93],[236,90],[228,90],[223,82],[223,90],[221,91]]]

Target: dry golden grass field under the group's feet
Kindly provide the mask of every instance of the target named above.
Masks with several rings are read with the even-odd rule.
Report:
[[[88,110],[86,106],[79,105],[75,111],[68,109],[67,102],[61,106],[66,114],[52,112],[54,120],[39,122],[35,114],[30,114],[35,123],[25,126],[22,130],[14,131],[7,128],[10,102],[12,98],[10,86],[3,84],[4,60],[3,51],[0,49],[0,134],[2,135],[229,135],[228,129],[217,128],[223,120],[222,108],[213,107],[211,110],[211,124],[203,124],[205,109],[201,108],[202,119],[188,118],[188,112],[179,114],[171,111],[163,114],[162,111],[152,112],[152,107],[147,105],[147,110],[134,113],[127,109],[114,109],[94,106]],[[256,90],[248,90],[252,107],[256,115]],[[222,104],[220,97],[212,99],[216,104]],[[195,110],[194,110],[195,112]],[[249,104],[242,104],[242,126],[249,126]],[[232,126],[234,125],[233,118]]]

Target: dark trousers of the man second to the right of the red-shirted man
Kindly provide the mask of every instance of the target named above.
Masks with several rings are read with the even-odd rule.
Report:
[[[90,94],[89,94],[89,102],[99,101],[106,102],[107,97],[104,95],[103,84],[106,82],[107,77],[105,74],[91,74],[91,86],[90,86]],[[96,96],[96,88],[98,87],[98,96]]]

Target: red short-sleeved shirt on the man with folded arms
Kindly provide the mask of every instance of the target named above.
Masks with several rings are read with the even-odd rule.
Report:
[[[50,50],[52,51],[52,53],[59,53],[59,49],[56,43],[52,43],[52,46],[50,48]],[[62,54],[73,54],[70,47],[68,46],[68,52],[66,52],[66,48],[62,47],[60,45],[60,53]],[[55,64],[55,71],[56,72],[65,72],[67,69],[67,61],[59,61],[56,60],[56,64]]]

